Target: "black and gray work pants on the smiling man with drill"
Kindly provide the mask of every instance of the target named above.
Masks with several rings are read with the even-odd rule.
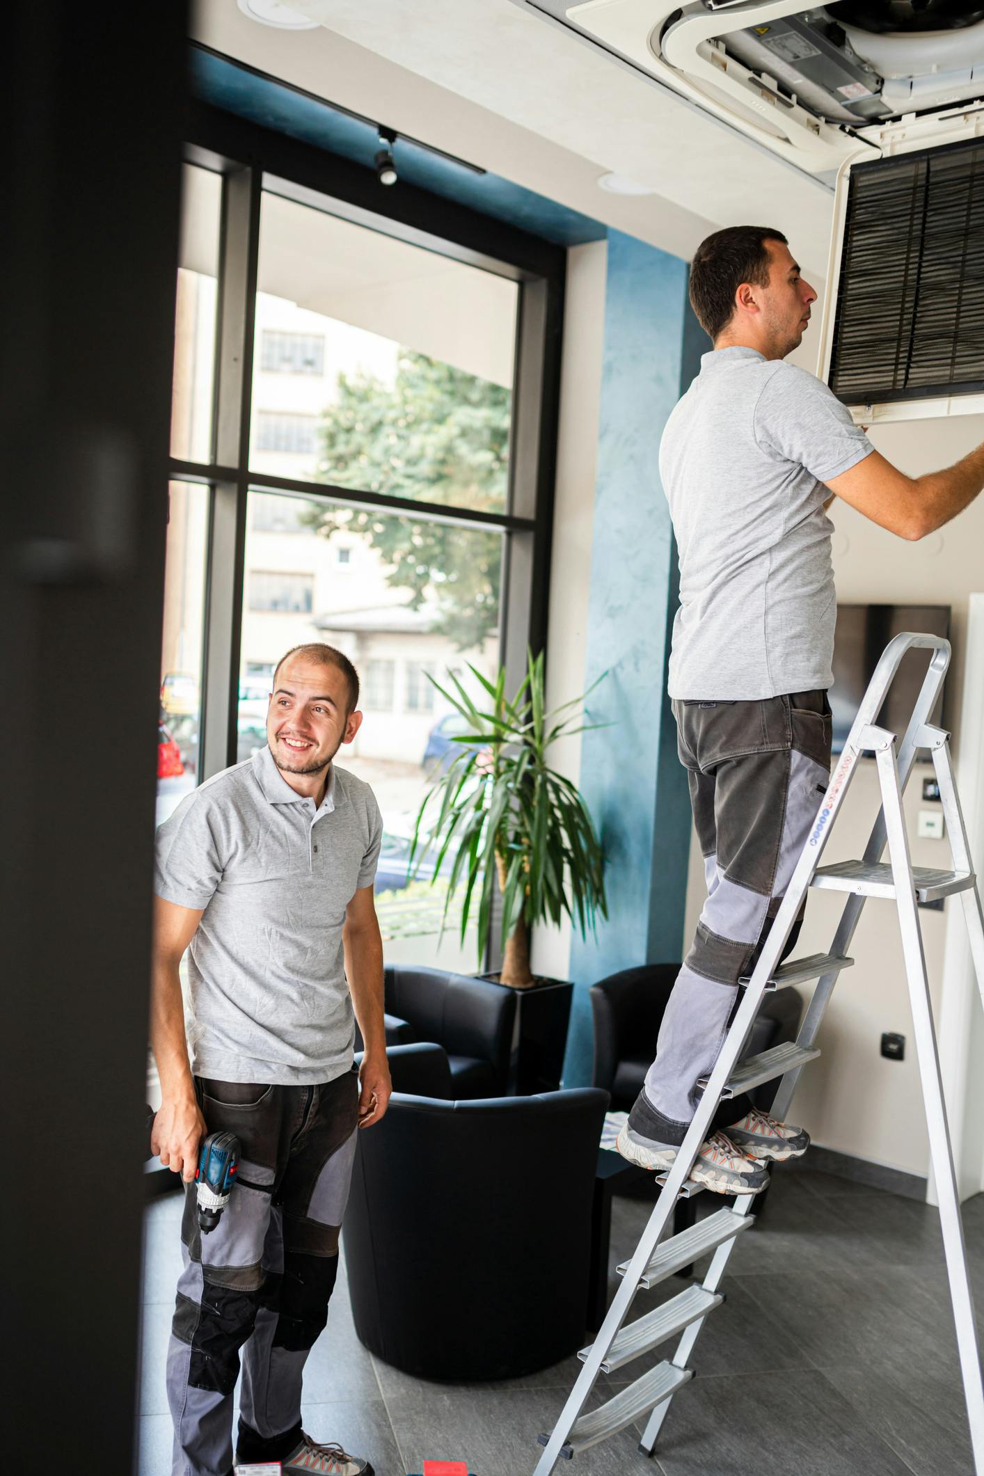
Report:
[[[277,1461],[301,1438],[301,1376],[328,1321],[358,1120],[356,1069],[316,1086],[196,1077],[209,1132],[235,1132],[236,1185],[215,1230],[198,1228],[187,1185],[184,1271],[167,1359],[174,1476]]]

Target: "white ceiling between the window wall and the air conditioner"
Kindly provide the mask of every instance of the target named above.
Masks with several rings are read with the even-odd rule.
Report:
[[[825,186],[510,0],[291,3],[322,30],[277,31],[236,0],[198,0],[192,34],[676,255],[752,221],[825,270]],[[608,195],[608,171],[658,193]]]

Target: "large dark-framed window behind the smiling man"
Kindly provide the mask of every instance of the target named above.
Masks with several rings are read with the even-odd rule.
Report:
[[[261,159],[263,131],[242,127],[242,158]],[[460,942],[453,914],[438,946],[450,858],[425,846],[413,877],[410,840],[457,751],[435,683],[451,669],[478,695],[471,669],[519,667],[541,635],[540,419],[562,251],[500,224],[477,232],[472,211],[437,199],[426,238],[398,201],[373,220],[341,186],[328,199],[292,184],[292,145],[276,148],[276,193],[261,164],[223,159],[207,137],[184,171],[161,673],[181,772],[167,803],[264,747],[288,648],[339,646],[364,716],[336,762],[382,809],[387,958],[472,970],[474,936]],[[304,168],[298,152],[298,180]],[[326,155],[320,187],[330,176]]]

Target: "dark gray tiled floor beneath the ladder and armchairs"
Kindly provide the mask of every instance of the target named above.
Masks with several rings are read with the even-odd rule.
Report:
[[[720,1201],[702,1196],[707,1209]],[[179,1266],[176,1197],[148,1210],[140,1476],[170,1472],[164,1353]],[[612,1268],[649,1204],[617,1199]],[[984,1303],[984,1196],[963,1206]],[[698,1266],[699,1271],[704,1265]],[[969,1476],[937,1212],[808,1168],[780,1169],[769,1204],[729,1263],[727,1300],[707,1324],[699,1373],[674,1401],[649,1461],[637,1432],[578,1455],[571,1476]],[[683,1283],[642,1292],[639,1314]],[[659,1353],[665,1356],[665,1349]],[[656,1361],[652,1355],[651,1361]],[[477,1476],[530,1476],[536,1436],[561,1411],[575,1358],[524,1382],[432,1384],[373,1358],[356,1337],[344,1278],[308,1361],[304,1420],[316,1439],[367,1455],[376,1476],[425,1458]],[[603,1398],[639,1364],[606,1380]]]

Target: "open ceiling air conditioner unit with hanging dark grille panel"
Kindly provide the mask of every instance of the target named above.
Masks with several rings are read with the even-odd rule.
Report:
[[[856,419],[984,412],[984,0],[518,3],[834,189],[820,373]]]

